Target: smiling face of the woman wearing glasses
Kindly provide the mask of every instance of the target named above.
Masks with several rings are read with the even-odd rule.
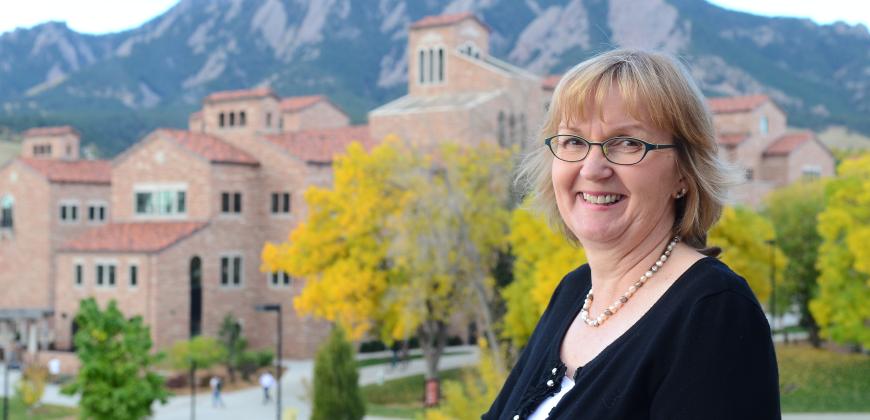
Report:
[[[643,109],[639,110],[645,115]],[[672,144],[672,136],[632,117],[613,87],[602,109],[562,121],[558,134],[591,142],[629,136],[654,144]],[[635,165],[616,165],[592,146],[580,162],[553,159],[553,188],[562,220],[584,246],[637,244],[657,227],[674,223],[674,195],[685,186],[677,171],[674,149],[651,150]],[[616,202],[598,204],[602,196]]]

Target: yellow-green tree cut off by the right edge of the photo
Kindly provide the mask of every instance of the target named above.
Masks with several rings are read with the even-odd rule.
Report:
[[[818,229],[819,292],[810,310],[822,336],[870,347],[870,153],[840,164]]]

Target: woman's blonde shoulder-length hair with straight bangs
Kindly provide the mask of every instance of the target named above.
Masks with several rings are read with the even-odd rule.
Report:
[[[673,135],[677,170],[686,194],[677,200],[674,233],[696,249],[706,248],[710,227],[719,219],[728,186],[735,178],[718,157],[713,122],[704,96],[686,69],[670,56],[618,49],[592,57],[569,70],[559,81],[539,139],[520,163],[517,183],[530,205],[572,242],[577,238],[562,220],[550,175],[553,155],[543,138],[555,135],[559,123],[601,112],[611,87],[619,90],[632,117]]]

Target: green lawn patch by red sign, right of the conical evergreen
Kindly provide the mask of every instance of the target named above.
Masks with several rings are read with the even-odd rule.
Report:
[[[462,369],[441,371],[441,383],[462,379]],[[383,385],[362,387],[366,414],[384,417],[415,418],[423,414],[423,375],[386,381]]]

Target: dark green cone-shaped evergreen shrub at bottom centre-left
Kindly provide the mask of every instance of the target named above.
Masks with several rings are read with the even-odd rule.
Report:
[[[358,420],[365,415],[353,347],[336,325],[314,361],[312,420]]]

